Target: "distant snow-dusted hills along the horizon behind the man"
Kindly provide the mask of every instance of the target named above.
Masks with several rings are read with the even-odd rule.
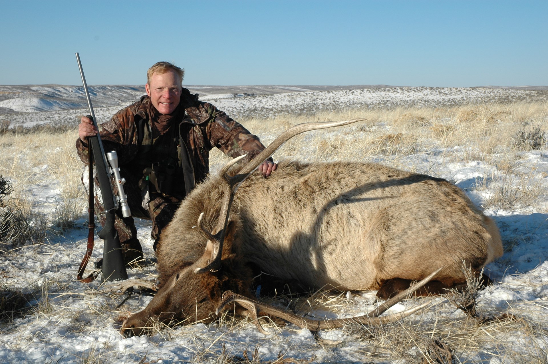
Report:
[[[187,86],[232,118],[267,118],[356,108],[437,107],[478,102],[546,101],[548,90],[392,86]],[[95,115],[106,121],[145,94],[144,86],[90,86]],[[77,125],[88,114],[82,86],[0,86],[0,120],[10,125]]]

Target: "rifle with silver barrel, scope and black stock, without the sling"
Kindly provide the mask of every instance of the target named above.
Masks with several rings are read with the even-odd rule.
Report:
[[[84,72],[82,70],[82,63],[80,62],[80,56],[76,53],[76,59],[78,61],[78,67],[80,69],[80,75],[82,76],[82,83],[84,85],[85,96],[88,100],[89,112],[88,118],[92,119],[93,124],[98,128],[95,114],[93,112],[92,101],[89,97],[88,85],[85,82]],[[99,130],[99,129],[97,129]],[[122,254],[122,247],[120,245],[118,232],[114,228],[114,222],[116,218],[116,209],[118,208],[118,200],[112,189],[111,182],[111,170],[107,162],[107,156],[105,154],[101,138],[99,134],[96,136],[88,137],[88,153],[93,153],[93,159],[95,161],[95,170],[97,178],[99,180],[99,189],[101,191],[101,197],[103,206],[105,207],[106,222],[105,226],[99,232],[99,238],[104,240],[103,247],[103,263],[102,263],[102,280],[104,281],[116,281],[128,279],[128,274],[125,270],[124,258]],[[111,152],[112,153],[112,152]],[[115,153],[114,153],[115,154]],[[116,155],[116,154],[115,154]],[[113,169],[117,170],[113,165]],[[92,171],[92,169],[90,169]],[[119,174],[117,175],[119,177]],[[121,201],[125,201],[125,195],[123,194],[123,180],[118,178],[118,193],[121,197]],[[90,184],[93,181],[90,181]],[[90,186],[91,190],[92,186]],[[93,196],[90,196],[93,198]],[[124,205],[124,204],[123,204]],[[127,203],[123,206],[123,214],[125,217],[129,215],[129,208]],[[126,216],[127,215],[127,216]],[[85,267],[84,267],[85,268]]]

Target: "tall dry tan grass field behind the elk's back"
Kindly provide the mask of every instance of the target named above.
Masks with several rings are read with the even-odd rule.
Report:
[[[367,121],[296,136],[274,157],[381,161],[393,167],[415,170],[416,167],[405,160],[408,155],[441,151],[446,163],[463,159],[485,161],[507,172],[512,169],[512,160],[520,159],[521,152],[546,147],[548,106],[540,102],[515,102],[441,108],[357,109],[345,113],[322,112],[239,121],[267,144],[295,124],[355,118]],[[214,149],[210,163],[221,163],[224,158]],[[435,171],[430,173],[435,174]]]

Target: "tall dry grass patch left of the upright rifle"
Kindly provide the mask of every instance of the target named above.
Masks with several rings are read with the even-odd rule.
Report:
[[[80,182],[83,165],[75,149],[77,132],[54,131],[0,135],[0,175],[13,186],[6,203],[26,218],[32,230],[26,240],[31,242],[43,239],[46,231],[72,227],[85,211]],[[36,195],[47,197],[36,199]]]

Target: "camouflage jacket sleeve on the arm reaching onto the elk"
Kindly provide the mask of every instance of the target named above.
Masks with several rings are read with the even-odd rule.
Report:
[[[244,161],[253,159],[265,149],[258,136],[251,134],[236,120],[210,103],[198,102],[197,108],[193,108],[193,111],[208,115],[209,121],[202,126],[202,130],[209,141],[209,149],[217,147],[232,158],[247,154]]]

